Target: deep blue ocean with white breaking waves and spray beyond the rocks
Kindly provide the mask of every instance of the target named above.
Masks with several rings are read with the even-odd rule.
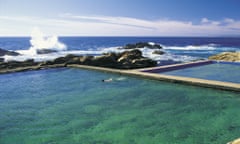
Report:
[[[140,49],[143,55],[159,61],[179,63],[207,59],[226,51],[240,51],[240,38],[214,37],[1,37],[0,48],[21,53],[21,56],[4,56],[9,60],[36,61],[51,60],[66,54],[100,55],[107,52],[121,52],[119,47],[129,43],[153,42],[160,44],[164,55],[152,54],[154,50]],[[37,55],[36,49],[54,49],[57,53]]]

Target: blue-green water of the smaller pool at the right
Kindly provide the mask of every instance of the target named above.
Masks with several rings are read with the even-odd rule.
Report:
[[[213,63],[162,72],[162,74],[240,83],[240,64]]]

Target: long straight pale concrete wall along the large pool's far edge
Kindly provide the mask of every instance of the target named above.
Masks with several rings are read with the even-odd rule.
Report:
[[[236,84],[236,83],[204,80],[204,79],[188,78],[188,77],[180,77],[180,76],[170,76],[170,75],[163,75],[163,74],[154,74],[154,73],[141,71],[143,69],[120,70],[120,69],[102,68],[102,67],[86,66],[86,65],[68,65],[68,67],[89,69],[89,70],[96,70],[96,71],[103,71],[103,72],[110,72],[110,73],[118,73],[118,74],[137,76],[137,77],[158,80],[158,81],[167,81],[167,82],[173,82],[173,83],[200,86],[205,88],[214,88],[214,89],[220,89],[220,90],[240,92],[240,84]],[[152,69],[153,68],[156,68],[156,67],[152,67]],[[151,69],[151,68],[148,68],[148,69]]]

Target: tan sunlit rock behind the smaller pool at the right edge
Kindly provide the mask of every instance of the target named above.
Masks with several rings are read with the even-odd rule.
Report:
[[[214,56],[210,56],[209,60],[240,62],[240,52],[223,52]]]

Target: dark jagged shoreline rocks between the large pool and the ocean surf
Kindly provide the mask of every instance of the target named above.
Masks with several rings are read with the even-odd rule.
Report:
[[[159,51],[159,49],[161,49],[160,45],[157,44],[150,45],[149,43],[141,42],[136,44],[128,44],[122,47],[123,49],[126,49],[126,51],[122,53],[105,53],[100,56],[77,56],[69,54],[51,61],[43,62],[35,62],[33,59],[29,59],[26,61],[4,62],[4,59],[0,59],[0,73],[66,67],[70,64],[89,65],[115,69],[136,69],[157,66],[157,61],[143,57],[142,52],[137,49],[139,47],[157,49],[156,51],[158,51],[159,54],[164,54],[163,52]],[[3,49],[1,49],[0,54],[2,56],[19,55],[16,52],[7,51]]]

